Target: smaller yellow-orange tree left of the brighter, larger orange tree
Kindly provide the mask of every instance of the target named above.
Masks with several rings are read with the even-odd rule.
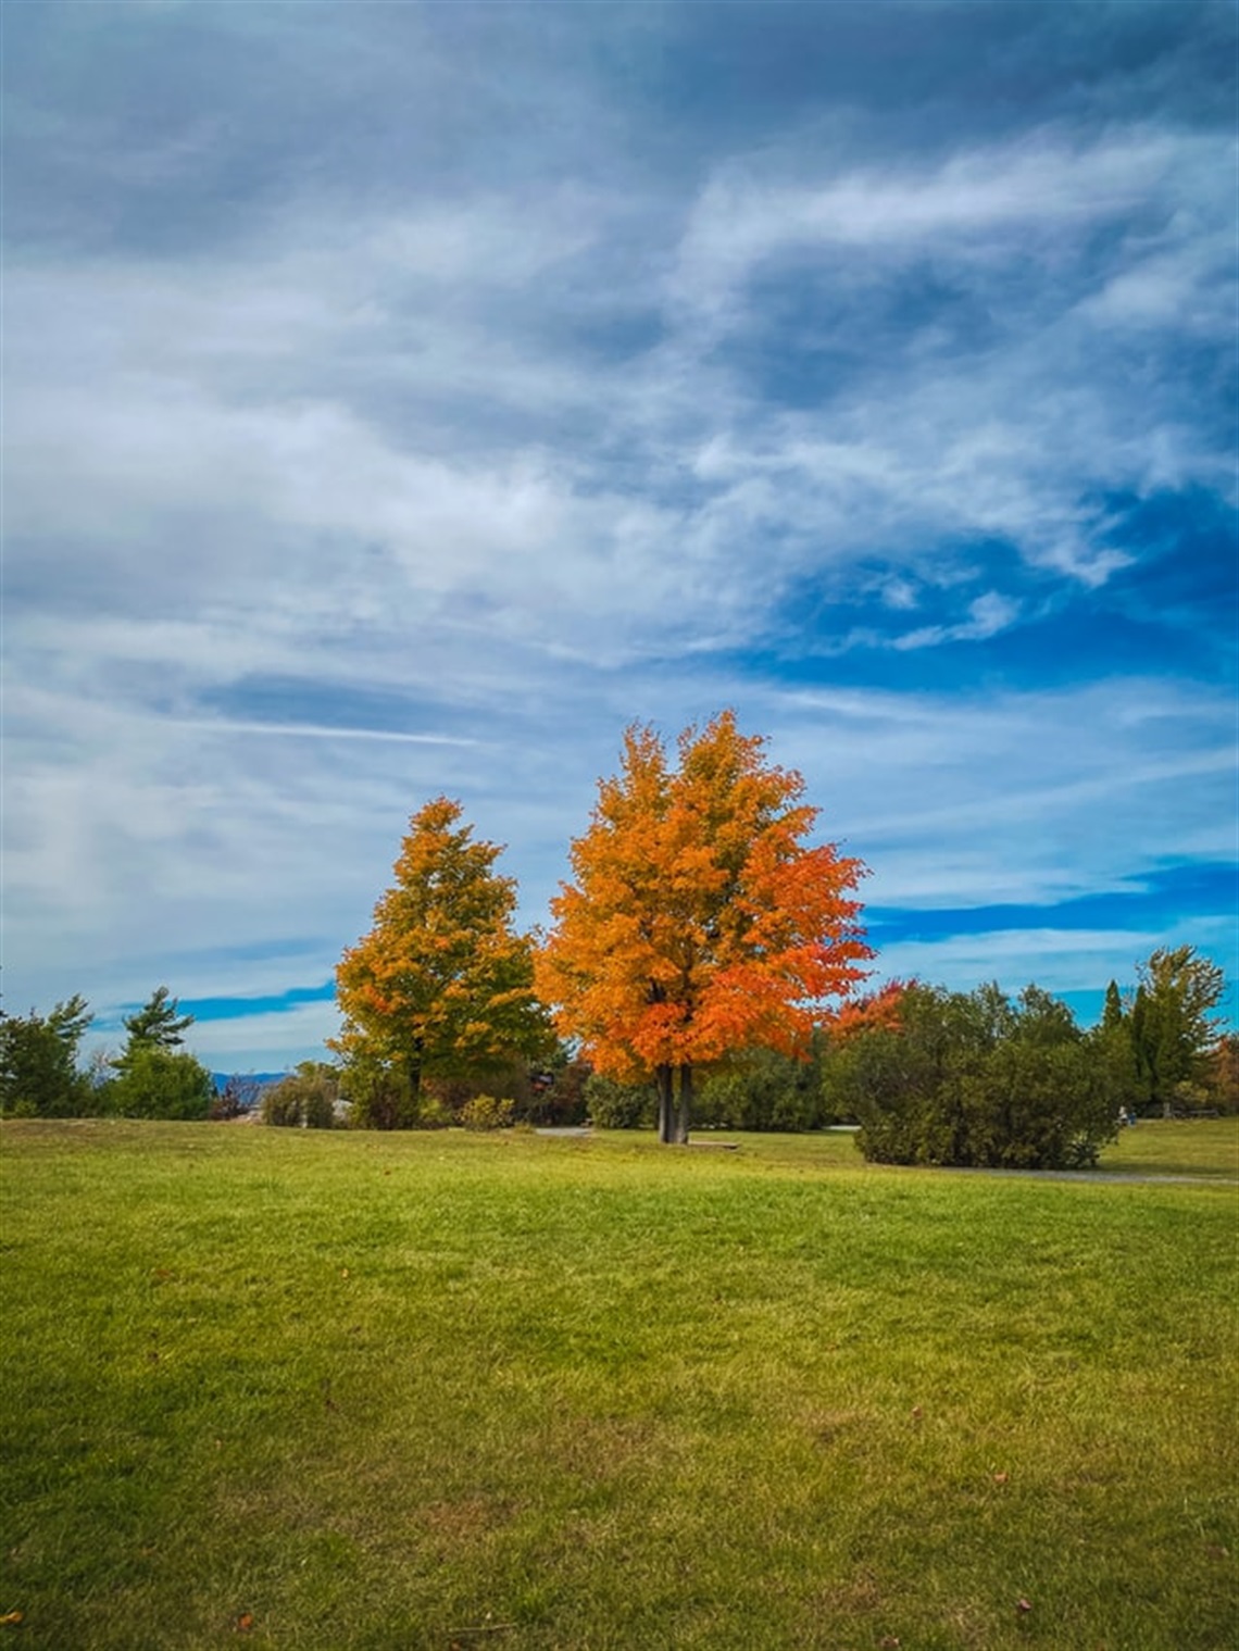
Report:
[[[501,852],[472,840],[459,802],[434,797],[410,821],[375,926],[335,969],[344,1027],[330,1047],[372,1124],[415,1123],[423,1078],[482,1075],[550,1042]]]

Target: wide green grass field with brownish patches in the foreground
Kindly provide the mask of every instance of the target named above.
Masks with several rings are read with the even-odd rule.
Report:
[[[732,1139],[7,1124],[0,1646],[1229,1651],[1239,1124]]]

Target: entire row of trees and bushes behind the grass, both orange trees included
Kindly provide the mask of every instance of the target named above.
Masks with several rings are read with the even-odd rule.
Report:
[[[730,712],[674,751],[626,730],[570,845],[573,882],[547,933],[515,928],[501,845],[434,797],[410,819],[373,926],[335,971],[335,1062],[307,1062],[261,1095],[271,1124],[653,1121],[689,1128],[859,1124],[871,1157],[920,1164],[1095,1161],[1120,1119],[1234,1111],[1236,1040],[1211,1012],[1222,971],[1161,948],[1127,997],[1082,1030],[1028,986],[864,991],[874,958],[861,860],[811,842],[805,781],[773,766]],[[88,1070],[89,1014],[0,1020],[0,1106],[12,1116],[235,1116],[243,1080],[215,1096],[180,1048],[190,1017],[160,986],[126,1020],[116,1058]],[[256,1088],[256,1086],[251,1086]]]

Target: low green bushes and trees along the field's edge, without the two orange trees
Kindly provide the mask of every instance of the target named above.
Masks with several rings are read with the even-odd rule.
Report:
[[[1221,971],[1193,948],[1156,951],[1140,986],[1112,982],[1099,1025],[1036,986],[950,992],[914,982],[885,989],[819,1029],[803,1058],[735,1052],[704,1073],[695,1126],[811,1131],[859,1126],[861,1149],[884,1162],[1080,1166],[1137,1116],[1239,1113],[1239,1037],[1209,1009]],[[233,1076],[223,1091],[180,1045],[192,1017],[167,987],[126,1020],[119,1055],[78,1063],[91,1015],[81,997],[48,1015],[0,1017],[0,1106],[10,1118],[226,1119],[251,1114],[291,1128],[476,1129],[651,1128],[651,1080],[621,1083],[557,1043],[530,1065],[428,1078],[418,1105],[390,1076],[347,1062],[304,1062],[274,1083]]]

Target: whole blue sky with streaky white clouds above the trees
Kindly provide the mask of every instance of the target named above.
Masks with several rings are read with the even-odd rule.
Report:
[[[7,5],[3,81],[13,1012],[317,1055],[428,797],[537,923],[729,705],[879,977],[1239,976],[1232,5]]]

